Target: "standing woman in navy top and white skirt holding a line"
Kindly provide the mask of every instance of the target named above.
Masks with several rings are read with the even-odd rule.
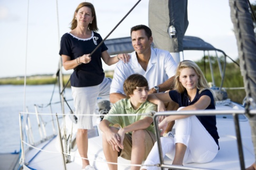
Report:
[[[91,3],[83,2],[75,9],[71,31],[61,38],[60,55],[63,67],[74,69],[70,77],[75,114],[78,115],[77,146],[81,157],[88,158],[88,129],[92,129],[92,115],[98,96],[109,95],[111,79],[105,77],[101,58],[107,65],[119,60],[129,61],[129,55],[110,57],[104,43],[100,44],[96,12]],[[81,116],[86,115],[86,116]],[[82,159],[82,169],[94,169],[87,159]]]

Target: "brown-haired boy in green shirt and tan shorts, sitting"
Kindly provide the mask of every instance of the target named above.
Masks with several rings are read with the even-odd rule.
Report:
[[[107,162],[117,163],[118,156],[131,160],[131,164],[141,164],[148,156],[156,141],[153,118],[140,114],[157,111],[157,105],[147,101],[148,82],[140,74],[130,75],[124,82],[128,98],[116,102],[100,122],[103,151]],[[111,116],[115,114],[135,114],[134,116]],[[110,126],[119,124],[120,129]],[[109,169],[117,169],[116,164],[108,164]],[[131,166],[131,169],[140,169]]]

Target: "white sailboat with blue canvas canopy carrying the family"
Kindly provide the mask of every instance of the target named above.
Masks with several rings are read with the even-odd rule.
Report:
[[[206,43],[203,39],[193,36],[184,36],[182,38],[183,51],[197,50],[197,51],[214,51],[216,53],[226,54],[221,49],[216,49],[211,44]],[[130,37],[107,39],[105,44],[109,48],[109,54],[118,54],[122,52],[130,53],[134,51],[131,46]],[[185,58],[185,56],[184,56]],[[219,57],[216,56],[218,62]],[[209,58],[210,59],[210,58]],[[210,67],[211,67],[211,62]],[[221,66],[221,64],[220,64]],[[61,72],[61,71],[60,71]],[[224,68],[220,68],[220,75],[224,75]],[[213,74],[213,73],[212,73]],[[60,79],[60,87],[63,85],[62,76],[58,73]],[[214,82],[214,80],[212,81]],[[62,91],[63,87],[61,87]],[[224,93],[222,87],[216,87],[213,84],[213,90],[216,93]],[[104,108],[100,108],[100,104],[108,101],[106,98],[98,99],[98,107],[93,115],[94,129],[89,132],[89,150],[88,159],[90,163],[97,169],[107,169],[107,162],[103,154],[101,132],[99,130],[99,122],[104,114]],[[61,95],[62,107],[65,102],[64,94]],[[71,109],[72,110],[72,109]],[[237,114],[235,114],[237,113]],[[248,118],[244,115],[244,106],[230,101],[224,95],[216,101],[216,111],[211,114],[217,115],[217,129],[220,135],[220,151],[216,158],[210,163],[205,164],[185,164],[184,167],[172,167],[172,161],[168,157],[164,157],[160,165],[162,168],[171,167],[176,169],[242,169],[243,166],[249,166],[255,161],[253,153],[253,144],[251,139],[251,128]],[[23,119],[22,115],[34,114],[37,118],[37,128],[41,139],[39,142],[33,141],[33,133],[31,122],[29,118]],[[154,117],[163,113],[156,113]],[[166,112],[164,114],[174,114],[174,112]],[[182,113],[181,113],[182,114]],[[195,114],[195,113],[193,113]],[[202,112],[198,111],[198,114]],[[232,116],[232,114],[234,116]],[[239,116],[238,116],[239,114]],[[45,124],[42,121],[43,116],[53,117],[53,134],[46,136]],[[61,117],[62,116],[62,117]],[[23,122],[25,121],[25,122]],[[60,123],[60,121],[62,123]],[[235,123],[234,123],[235,122]],[[55,126],[57,128],[55,128]],[[239,128],[240,127],[240,128]],[[75,133],[77,132],[76,118],[71,113],[59,114],[41,114],[35,113],[20,113],[20,130],[22,153],[21,160],[17,164],[19,169],[80,169],[81,158],[75,143]],[[25,135],[26,134],[26,135]],[[158,134],[159,135],[159,134]],[[236,136],[238,135],[238,136]],[[240,136],[241,135],[241,136]],[[28,140],[24,140],[24,136]],[[29,141],[29,142],[27,142]],[[24,146],[28,146],[25,148]],[[238,145],[238,146],[237,146]],[[241,153],[242,149],[242,153]],[[241,159],[241,154],[242,156]],[[244,164],[241,164],[241,161]],[[137,165],[140,166],[140,165]],[[118,158],[119,169],[130,169],[130,162],[123,158]]]

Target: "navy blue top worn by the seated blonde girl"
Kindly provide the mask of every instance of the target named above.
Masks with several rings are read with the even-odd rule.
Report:
[[[207,95],[211,98],[211,103],[206,109],[215,109],[212,92],[209,89],[204,89],[200,94],[198,92],[199,92],[199,89],[197,89],[197,93],[193,101],[189,101],[189,97],[187,95],[186,90],[184,93],[178,93],[175,90],[169,91],[169,96],[174,102],[178,103],[179,107],[186,107],[186,106],[195,104],[200,99],[201,96]],[[216,116],[214,115],[214,116],[196,116],[196,117],[205,127],[206,131],[208,131],[208,133],[210,133],[210,135],[213,137],[216,144],[219,146],[218,139],[220,137],[216,127]]]

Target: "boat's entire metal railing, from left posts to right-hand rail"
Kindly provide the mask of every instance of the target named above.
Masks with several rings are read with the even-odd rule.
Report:
[[[35,115],[40,116],[40,114],[36,112]],[[200,111],[166,111],[166,112],[158,112],[158,113],[149,113],[150,116],[153,116],[154,119],[154,124],[155,124],[155,129],[156,129],[156,139],[157,139],[157,145],[158,145],[158,151],[159,151],[159,158],[160,158],[160,163],[157,164],[156,166],[160,167],[160,168],[172,168],[172,169],[204,169],[204,168],[195,168],[195,167],[188,167],[188,166],[178,166],[178,165],[169,165],[169,164],[165,164],[164,163],[164,157],[163,157],[163,152],[162,152],[162,146],[160,143],[160,134],[158,131],[158,121],[157,121],[157,117],[164,115],[164,116],[169,116],[169,115],[233,115],[234,118],[234,125],[235,125],[235,132],[236,132],[236,137],[237,137],[237,145],[238,145],[238,152],[239,152],[239,161],[240,161],[240,167],[241,169],[245,169],[245,164],[244,164],[244,157],[243,157],[243,148],[242,148],[242,140],[241,140],[241,134],[240,134],[240,126],[239,126],[239,114],[245,114],[245,110],[225,110],[225,111],[221,111],[221,110],[200,110]],[[250,110],[250,114],[255,115],[256,114],[256,110]],[[50,115],[50,114],[49,114]],[[51,114],[52,115],[52,114]],[[99,116],[99,115],[95,115],[95,116]],[[129,116],[129,115],[127,115]],[[22,127],[22,115],[20,113],[20,126]],[[53,121],[53,120],[52,120]],[[61,154],[62,154],[62,161],[63,161],[63,168],[67,169],[66,166],[66,154],[64,152],[64,148],[62,145],[62,137],[61,137],[61,132],[60,132],[60,125],[59,125],[59,121],[58,121],[58,117],[56,114],[56,121],[57,121],[57,126],[58,126],[58,137],[59,137],[59,141],[60,141],[60,148],[61,148]],[[39,126],[40,128],[41,126]],[[22,132],[22,128],[20,128],[21,130],[21,141],[23,141],[23,132]],[[47,138],[41,138],[41,142],[45,141]],[[22,143],[22,155],[21,155],[21,162],[22,164],[26,165],[25,163],[25,155],[24,155],[24,148],[23,148],[23,143]],[[208,169],[208,168],[207,168]]]

